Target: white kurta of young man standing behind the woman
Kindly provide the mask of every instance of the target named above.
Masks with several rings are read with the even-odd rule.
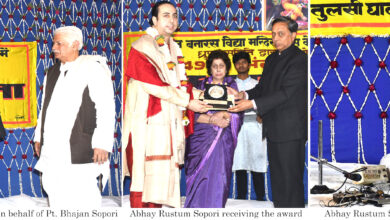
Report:
[[[251,77],[245,80],[237,78],[236,82],[239,91],[252,89],[258,83]],[[263,125],[256,121],[256,116],[253,109],[245,112],[234,151],[233,171],[267,172],[267,142],[262,139]]]

